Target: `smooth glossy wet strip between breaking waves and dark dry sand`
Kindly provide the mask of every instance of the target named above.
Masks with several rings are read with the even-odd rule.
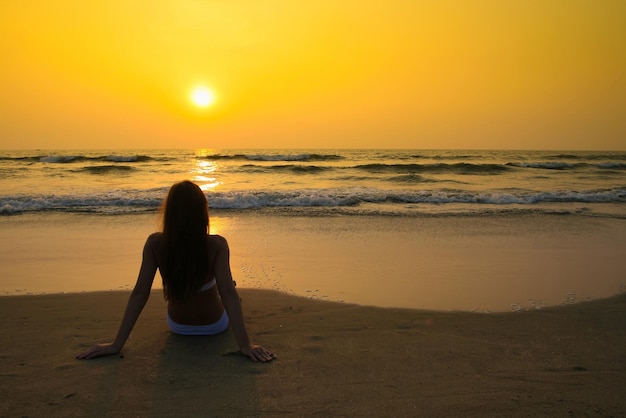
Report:
[[[131,289],[155,215],[0,217],[0,294]],[[240,287],[435,310],[540,309],[626,284],[626,221],[222,214]],[[160,287],[160,277],[155,279]]]

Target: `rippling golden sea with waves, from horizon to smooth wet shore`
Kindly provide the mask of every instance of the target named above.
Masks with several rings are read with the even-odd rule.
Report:
[[[626,152],[0,151],[0,215],[154,212],[174,182],[212,211],[626,217]]]

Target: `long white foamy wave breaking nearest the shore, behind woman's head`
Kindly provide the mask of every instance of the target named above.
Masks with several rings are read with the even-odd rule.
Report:
[[[102,195],[33,195],[0,197],[0,214],[26,212],[132,213],[156,211],[165,189],[120,191]],[[470,192],[466,190],[392,191],[370,188],[300,189],[292,191],[211,192],[212,209],[316,208],[374,205],[465,204],[536,206],[542,203],[626,203],[626,188],[549,192]],[[404,209],[403,209],[404,210]]]

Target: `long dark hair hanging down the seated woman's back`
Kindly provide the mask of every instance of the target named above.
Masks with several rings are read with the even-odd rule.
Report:
[[[174,184],[163,204],[160,266],[166,300],[185,302],[209,273],[209,209],[196,184]]]

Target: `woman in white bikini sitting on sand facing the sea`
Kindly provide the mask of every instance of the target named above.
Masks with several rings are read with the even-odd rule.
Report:
[[[253,361],[274,359],[273,353],[250,343],[230,271],[228,243],[219,235],[208,235],[208,227],[208,205],[202,190],[190,181],[173,185],[164,203],[163,232],[146,240],[137,284],[115,341],[97,344],[76,358],[120,352],[150,297],[158,268],[172,332],[214,335],[225,331],[230,322],[241,353]]]

